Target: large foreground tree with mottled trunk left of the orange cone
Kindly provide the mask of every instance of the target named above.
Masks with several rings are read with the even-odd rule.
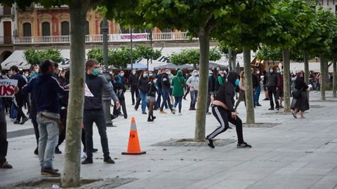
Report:
[[[65,163],[62,174],[62,187],[80,186],[80,156],[81,156],[81,123],[84,109],[84,62],[86,38],[86,13],[96,6],[105,6],[108,15],[122,10],[128,10],[133,1],[123,0],[2,0],[7,5],[17,3],[20,8],[31,6],[31,3],[41,3],[45,8],[67,4],[70,10],[70,95],[67,113],[67,136],[65,146]]]

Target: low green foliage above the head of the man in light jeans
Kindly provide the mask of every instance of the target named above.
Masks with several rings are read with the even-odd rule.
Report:
[[[47,50],[25,50],[23,52],[25,59],[29,64],[40,64],[44,59],[51,59],[53,62],[61,62],[62,55],[58,49]]]

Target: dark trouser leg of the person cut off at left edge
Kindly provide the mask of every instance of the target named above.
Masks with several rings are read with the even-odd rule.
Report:
[[[7,124],[4,109],[0,109],[0,163],[6,162],[8,149]]]

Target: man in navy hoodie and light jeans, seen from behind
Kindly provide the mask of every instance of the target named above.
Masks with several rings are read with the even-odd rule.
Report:
[[[60,120],[60,95],[67,90],[53,77],[55,70],[51,60],[45,60],[40,66],[41,73],[30,80],[22,88],[24,94],[34,91],[34,101],[37,108],[37,123],[39,123],[39,160],[41,174],[60,176],[53,168],[53,156],[58,144]]]

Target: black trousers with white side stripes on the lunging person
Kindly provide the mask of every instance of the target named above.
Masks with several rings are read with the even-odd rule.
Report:
[[[237,116],[237,119],[232,118],[232,113],[223,109],[221,106],[213,106],[212,107],[213,116],[216,117],[216,120],[220,123],[220,127],[214,130],[211,134],[207,136],[207,139],[213,139],[219,134],[225,132],[228,127],[230,127],[229,123],[235,125],[237,130],[237,141],[238,144],[244,143],[244,134],[242,133],[242,120]],[[229,123],[228,123],[229,122]]]

